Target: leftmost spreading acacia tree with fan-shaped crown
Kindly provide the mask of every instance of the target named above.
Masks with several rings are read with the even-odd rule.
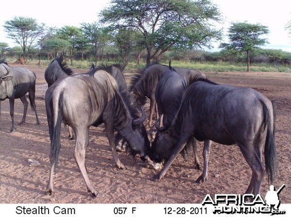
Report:
[[[33,42],[43,34],[45,24],[38,24],[36,19],[30,17],[16,17],[5,21],[4,31],[8,38],[13,39],[23,50],[24,61],[27,62],[27,56]]]

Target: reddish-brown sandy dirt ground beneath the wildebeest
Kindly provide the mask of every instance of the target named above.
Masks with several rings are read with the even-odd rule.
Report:
[[[10,64],[11,66],[16,66]],[[40,125],[34,112],[28,109],[27,120],[9,133],[11,117],[9,100],[1,102],[0,120],[0,203],[201,203],[206,194],[243,194],[251,170],[238,146],[213,143],[210,150],[209,179],[195,183],[202,171],[194,169],[193,155],[174,161],[164,179],[150,181],[158,171],[134,162],[124,153],[118,153],[127,170],[114,166],[104,126],[90,128],[90,144],[86,153],[89,178],[102,194],[93,198],[87,193],[84,180],[73,157],[75,140],[67,138],[67,127],[62,126],[61,153],[54,177],[54,195],[45,194],[49,179],[49,130],[45,109],[45,67],[25,66],[37,76],[36,106]],[[85,72],[73,69],[74,72]],[[274,186],[286,187],[279,197],[281,203],[291,203],[291,74],[277,72],[222,72],[205,73],[211,80],[239,87],[251,87],[275,101],[277,108],[276,150],[277,173]],[[148,114],[146,104],[146,113]],[[21,121],[23,106],[15,103],[15,122]],[[145,121],[146,122],[146,121]],[[201,163],[203,143],[198,143]],[[38,161],[30,166],[29,159]],[[261,195],[265,196],[271,184],[265,175]]]

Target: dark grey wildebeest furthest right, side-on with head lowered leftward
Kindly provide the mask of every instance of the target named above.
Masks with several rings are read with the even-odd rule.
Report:
[[[162,128],[162,127],[161,127]],[[181,107],[172,124],[158,132],[150,156],[157,162],[166,161],[162,171],[152,180],[162,179],[194,136],[204,140],[204,169],[197,182],[207,179],[211,140],[220,144],[237,144],[252,169],[252,178],[245,193],[259,194],[265,170],[269,181],[275,173],[275,108],[273,103],[251,88],[219,85],[197,79],[186,90]],[[265,147],[265,166],[262,150]]]

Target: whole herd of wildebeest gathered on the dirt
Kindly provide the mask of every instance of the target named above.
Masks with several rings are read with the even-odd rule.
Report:
[[[272,183],[276,168],[275,108],[273,102],[251,88],[219,85],[193,69],[173,68],[154,63],[147,66],[129,85],[123,77],[125,65],[95,67],[87,73],[73,74],[63,58],[52,61],[45,72],[48,90],[45,95],[50,138],[50,174],[46,190],[53,194],[53,173],[61,149],[61,123],[75,133],[74,157],[88,192],[101,194],[89,180],[85,166],[85,152],[89,144],[90,126],[104,123],[115,166],[126,169],[116,153],[116,143],[122,140],[127,153],[142,160],[164,163],[163,169],[152,177],[161,180],[178,154],[185,157],[193,147],[195,169],[200,169],[196,140],[204,141],[203,173],[196,182],[208,178],[208,158],[211,142],[237,144],[252,170],[245,193],[259,194],[264,172]],[[129,87],[129,89],[127,88]],[[25,122],[29,93],[34,103],[35,75],[24,67],[10,67],[0,62],[0,100],[9,98],[12,118],[11,131],[15,131],[14,99],[24,105]],[[150,146],[144,109],[150,99],[151,126],[154,109],[157,119],[156,137]],[[160,116],[159,116],[159,115]],[[117,132],[117,134],[114,134]],[[71,135],[72,136],[72,135]],[[262,162],[264,150],[265,165]]]

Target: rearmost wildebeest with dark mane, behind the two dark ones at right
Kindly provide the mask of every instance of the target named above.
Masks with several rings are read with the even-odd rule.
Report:
[[[134,93],[140,105],[143,106],[146,104],[146,98],[150,99],[148,126],[151,126],[154,109],[157,107],[155,98],[156,86],[159,80],[162,78],[163,73],[168,68],[169,67],[167,65],[157,63],[146,66],[146,69],[140,70],[139,74],[132,78],[131,84],[129,85],[129,91]],[[175,67],[174,69],[186,78],[195,75],[202,75],[204,78],[206,78],[204,74],[197,70],[179,67]],[[159,115],[157,108],[156,113],[158,118]]]

